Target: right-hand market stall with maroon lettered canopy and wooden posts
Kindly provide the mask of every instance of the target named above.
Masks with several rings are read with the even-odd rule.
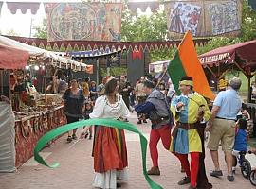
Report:
[[[247,107],[253,120],[253,136],[256,136],[256,105],[251,102],[250,79],[256,72],[256,40],[216,48],[199,56],[205,72],[217,83],[226,73],[235,69],[243,72],[248,80]]]

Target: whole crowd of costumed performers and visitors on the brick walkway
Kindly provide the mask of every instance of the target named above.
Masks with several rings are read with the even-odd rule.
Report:
[[[227,163],[227,180],[233,181],[234,164],[239,151],[247,151],[247,119],[238,95],[241,80],[230,79],[225,91],[217,94],[210,110],[208,101],[193,91],[192,77],[179,82],[177,95],[172,81],[159,83],[141,77],[133,87],[125,76],[105,77],[97,86],[90,78],[72,79],[63,95],[67,123],[89,118],[112,118],[129,121],[130,112],[137,112],[137,124],[152,123],[149,149],[153,166],[148,175],[160,175],[157,144],[161,139],[180,161],[186,176],[177,184],[189,188],[212,188],[205,169],[205,131],[210,132],[208,148],[214,168],[210,176],[221,177],[218,147],[221,144]],[[242,115],[242,116],[240,116]],[[77,139],[76,129],[68,133],[67,141]],[[98,188],[119,188],[117,180],[127,180],[127,148],[123,129],[94,126],[84,128],[81,137],[92,139],[95,179]],[[245,138],[246,137],[246,138]],[[188,155],[191,158],[189,161]]]

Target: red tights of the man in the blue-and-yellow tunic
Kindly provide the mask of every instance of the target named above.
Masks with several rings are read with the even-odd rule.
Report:
[[[174,155],[179,159],[182,167],[184,168],[187,177],[191,178],[192,187],[196,187],[197,174],[199,169],[199,152],[191,152],[191,168],[188,160],[188,154],[178,154]]]

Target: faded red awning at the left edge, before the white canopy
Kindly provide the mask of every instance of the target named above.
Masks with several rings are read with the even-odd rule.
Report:
[[[18,69],[27,65],[29,54],[27,51],[0,44],[0,68]]]

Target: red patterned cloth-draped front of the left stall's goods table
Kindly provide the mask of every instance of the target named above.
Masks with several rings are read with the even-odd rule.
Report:
[[[51,129],[66,123],[63,106],[15,120],[16,167],[20,167],[33,156],[38,140]]]

